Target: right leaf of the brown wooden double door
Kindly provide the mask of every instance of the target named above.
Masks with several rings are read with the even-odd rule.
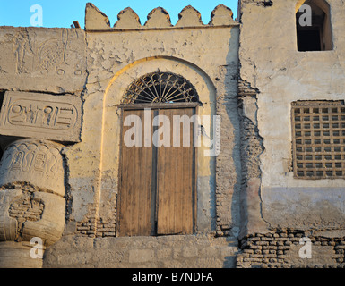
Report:
[[[194,231],[194,147],[193,124],[189,134],[180,128],[180,147],[173,147],[173,116],[194,114],[193,108],[164,109],[160,114],[171,122],[170,147],[158,148],[158,224],[157,234],[193,233]],[[184,136],[189,146],[183,146]]]

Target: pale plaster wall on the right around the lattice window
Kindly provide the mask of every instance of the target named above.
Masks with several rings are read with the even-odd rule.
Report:
[[[297,50],[297,1],[241,3],[240,78],[257,90],[257,108],[251,114],[264,147],[254,203],[255,216],[260,218],[256,224],[262,230],[343,228],[344,180],[301,180],[291,170],[291,102],[344,99],[345,4],[328,3],[333,49],[321,52]]]

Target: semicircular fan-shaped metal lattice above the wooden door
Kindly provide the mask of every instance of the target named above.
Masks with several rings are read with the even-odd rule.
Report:
[[[152,72],[135,80],[125,92],[123,104],[199,102],[194,86],[172,72]]]

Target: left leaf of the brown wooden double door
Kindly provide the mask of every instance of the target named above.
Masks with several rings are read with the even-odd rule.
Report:
[[[143,122],[143,110],[124,111],[128,115],[137,115]],[[120,196],[118,235],[151,235],[151,176],[152,148],[127,147],[125,132],[132,127],[123,126],[121,146]]]

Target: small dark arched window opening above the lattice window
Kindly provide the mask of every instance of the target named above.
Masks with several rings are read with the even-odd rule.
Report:
[[[299,1],[296,26],[299,52],[332,50],[330,5],[326,1]]]

